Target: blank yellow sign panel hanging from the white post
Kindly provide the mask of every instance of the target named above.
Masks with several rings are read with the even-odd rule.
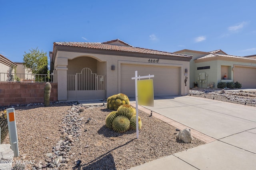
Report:
[[[138,104],[142,106],[154,106],[153,79],[138,80]]]

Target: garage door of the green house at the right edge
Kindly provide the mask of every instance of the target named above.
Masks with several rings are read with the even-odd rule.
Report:
[[[242,88],[256,88],[256,68],[236,66],[234,82],[240,82]]]

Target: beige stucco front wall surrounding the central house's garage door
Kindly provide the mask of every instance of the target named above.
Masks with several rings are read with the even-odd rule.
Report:
[[[180,84],[181,84],[181,88],[180,88],[180,94],[181,95],[185,95],[186,93],[188,93],[188,90],[186,90],[186,88],[189,88],[188,86],[185,87],[184,84],[184,70],[185,68],[188,69],[188,82],[189,80],[189,62],[188,61],[175,61],[175,60],[168,60],[168,59],[159,59],[159,63],[148,63],[148,58],[140,58],[140,57],[125,57],[125,56],[121,56],[121,55],[103,55],[103,54],[91,54],[91,53],[79,53],[79,52],[67,52],[67,51],[58,51],[58,54],[56,55],[59,58],[62,59],[66,59],[68,61],[68,63],[63,64],[63,62],[59,62],[58,58],[56,57],[56,61],[55,61],[55,68],[58,70],[58,68],[66,68],[66,70],[61,70],[60,72],[62,72],[60,74],[60,76],[62,78],[59,78],[59,73],[58,73],[58,94],[62,94],[63,96],[58,96],[59,100],[65,100],[65,93],[64,91],[66,91],[66,84],[65,83],[61,83],[66,81],[65,78],[65,71],[70,73],[71,69],[74,69],[71,67],[71,65],[75,65],[75,64],[80,64],[78,67],[84,68],[87,67],[87,60],[86,62],[78,62],[81,61],[83,59],[85,59],[84,57],[80,57],[80,56],[86,56],[87,59],[89,59],[88,57],[91,57],[91,59],[89,59],[88,61],[92,61],[92,64],[94,65],[94,60],[95,59],[96,65],[95,68],[97,68],[97,74],[102,74],[102,75],[106,75],[106,97],[111,96],[113,94],[117,94],[120,93],[120,65],[122,63],[130,63],[130,64],[142,64],[142,65],[152,65],[152,66],[178,66],[180,67]],[[76,57],[80,57],[75,59]],[[155,59],[158,59],[159,57],[156,56]],[[74,59],[74,60],[73,60]],[[72,63],[72,61],[74,61],[74,63]],[[111,70],[111,66],[114,65],[115,66],[115,70]],[[89,68],[92,68],[92,66],[88,66]],[[78,70],[77,70],[78,71]],[[187,82],[187,83],[188,83]],[[60,87],[63,86],[63,87]]]

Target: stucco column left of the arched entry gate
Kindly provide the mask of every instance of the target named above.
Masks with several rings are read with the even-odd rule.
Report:
[[[64,102],[68,99],[67,96],[67,58],[57,58],[57,80],[58,80],[58,101]]]

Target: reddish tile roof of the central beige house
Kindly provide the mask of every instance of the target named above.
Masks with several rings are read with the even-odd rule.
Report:
[[[107,42],[110,42],[110,41],[107,41]],[[154,54],[154,55],[192,58],[192,56],[190,56],[190,55],[182,55],[182,54],[177,54],[177,53],[169,53],[169,52],[157,51],[157,50],[152,50],[152,49],[132,47],[131,45],[128,45],[128,44],[127,44],[128,46],[127,45],[126,46],[111,45],[111,44],[108,44],[107,42],[105,42],[105,43],[54,42],[54,48],[56,46],[83,47],[83,48],[88,48],[88,49],[100,49],[100,50],[123,51],[123,52],[132,52],[132,53],[143,53],[143,54]],[[53,53],[54,53],[54,49],[53,49]]]

